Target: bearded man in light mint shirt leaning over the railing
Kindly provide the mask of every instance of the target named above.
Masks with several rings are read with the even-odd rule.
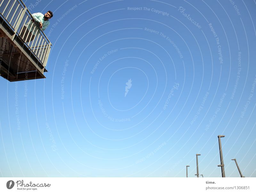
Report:
[[[35,36],[40,33],[39,29],[35,28],[32,22],[37,22],[42,31],[44,31],[49,25],[53,16],[52,11],[47,11],[44,15],[42,13],[33,13],[32,21],[30,20],[22,29],[20,35],[24,41],[29,42],[34,40]]]

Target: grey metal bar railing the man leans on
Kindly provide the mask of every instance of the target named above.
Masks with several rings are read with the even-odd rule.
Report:
[[[0,15],[45,67],[52,44],[34,22],[26,5],[21,0],[0,0]]]

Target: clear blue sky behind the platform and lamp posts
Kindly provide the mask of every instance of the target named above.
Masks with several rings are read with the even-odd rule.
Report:
[[[52,49],[0,79],[0,175],[220,177],[225,135],[226,177],[256,177],[254,1],[24,3]]]

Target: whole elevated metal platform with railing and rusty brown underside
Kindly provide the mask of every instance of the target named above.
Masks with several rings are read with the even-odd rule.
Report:
[[[13,82],[45,78],[51,42],[20,0],[0,1],[0,75]]]

